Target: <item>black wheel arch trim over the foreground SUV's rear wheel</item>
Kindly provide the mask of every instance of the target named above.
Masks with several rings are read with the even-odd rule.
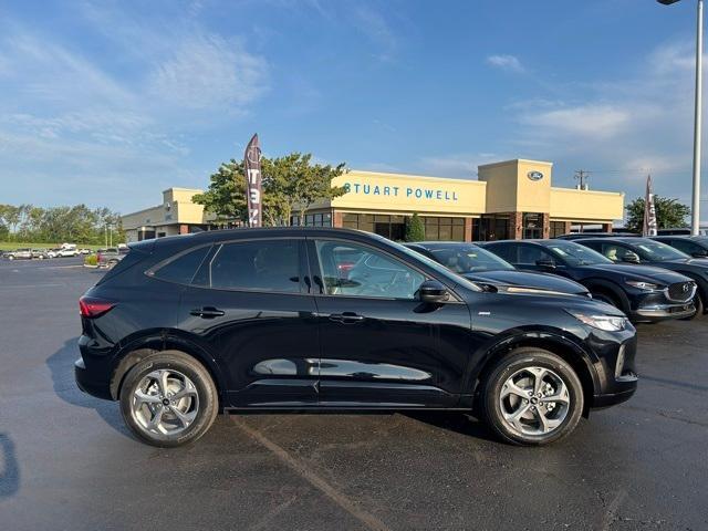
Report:
[[[112,357],[111,367],[113,376],[111,378],[111,396],[118,398],[118,392],[124,376],[140,360],[155,351],[165,350],[183,351],[198,360],[214,377],[214,383],[223,395],[227,391],[226,378],[219,368],[216,360],[208,348],[200,345],[198,341],[175,329],[153,329],[133,334],[119,342],[118,348]]]

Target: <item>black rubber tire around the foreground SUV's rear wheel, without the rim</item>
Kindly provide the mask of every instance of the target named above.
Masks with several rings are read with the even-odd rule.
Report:
[[[133,414],[133,397],[138,385],[149,373],[158,369],[177,371],[195,385],[198,409],[191,424],[177,435],[147,431]],[[219,413],[219,397],[209,372],[194,357],[179,351],[163,351],[138,362],[125,376],[119,392],[121,413],[126,426],[143,442],[159,448],[175,448],[194,442],[208,431]]]

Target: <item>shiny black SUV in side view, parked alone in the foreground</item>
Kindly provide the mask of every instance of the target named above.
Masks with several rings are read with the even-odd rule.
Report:
[[[162,447],[219,409],[452,409],[541,445],[636,389],[615,308],[486,292],[403,246],[324,228],[146,240],[80,300],[79,386]]]

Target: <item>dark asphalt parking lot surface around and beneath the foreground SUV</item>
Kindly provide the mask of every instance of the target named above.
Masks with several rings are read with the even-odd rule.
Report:
[[[75,387],[101,274],[0,261],[0,529],[708,529],[708,320],[642,326],[637,395],[548,448],[460,414],[281,414],[160,450]]]

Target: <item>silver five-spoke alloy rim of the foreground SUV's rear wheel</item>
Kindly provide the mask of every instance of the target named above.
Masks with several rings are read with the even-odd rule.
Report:
[[[181,434],[199,413],[197,387],[179,371],[153,371],[135,387],[131,413],[140,429],[148,434]]]

